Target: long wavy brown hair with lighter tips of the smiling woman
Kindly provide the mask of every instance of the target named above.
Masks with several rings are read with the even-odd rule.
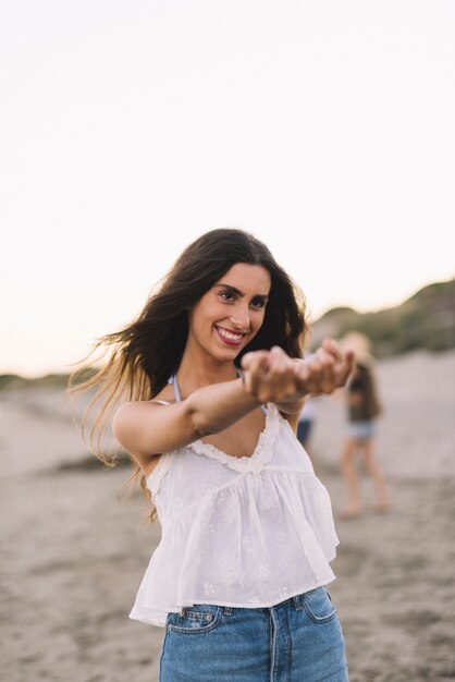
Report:
[[[187,246],[162,282],[152,290],[142,313],[120,331],[99,338],[70,377],[70,393],[98,388],[84,415],[85,440],[89,415],[97,409],[88,446],[104,463],[115,458],[103,452],[102,431],[123,402],[150,400],[176,373],[188,336],[188,310],[236,263],[260,265],[270,273],[271,289],[263,322],[256,337],[238,354],[281,346],[291,357],[302,357],[306,332],[305,297],[278,265],[269,248],[253,234],[238,229],[211,230]],[[101,350],[109,355],[101,367],[81,380],[88,361]],[[86,375],[87,376],[87,375]],[[134,462],[133,479],[146,477]],[[148,491],[147,491],[148,494]],[[149,495],[149,494],[148,494]],[[155,509],[151,517],[155,517]]]

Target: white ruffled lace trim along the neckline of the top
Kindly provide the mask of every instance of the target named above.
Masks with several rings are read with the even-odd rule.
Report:
[[[269,403],[266,415],[266,426],[260,433],[255,451],[251,455],[236,458],[231,454],[226,454],[216,446],[204,442],[202,440],[195,440],[186,446],[197,454],[202,454],[217,460],[221,464],[225,464],[229,468],[233,468],[243,473],[259,473],[266,464],[270,462],[274,452],[274,442],[280,431],[280,413],[275,405]]]

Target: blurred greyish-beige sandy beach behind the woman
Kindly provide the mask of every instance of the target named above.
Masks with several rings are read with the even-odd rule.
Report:
[[[315,468],[341,540],[330,593],[351,682],[455,680],[455,352],[377,365],[377,453],[392,508],[345,520],[340,395],[316,401]],[[0,670],[8,682],[157,682],[163,630],[127,618],[159,525],[89,466],[61,392],[0,392]]]

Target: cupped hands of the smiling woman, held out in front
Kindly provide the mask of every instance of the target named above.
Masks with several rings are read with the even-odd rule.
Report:
[[[325,339],[309,360],[290,357],[281,348],[255,351],[242,358],[245,390],[261,402],[292,403],[307,394],[331,393],[344,386],[354,353]]]

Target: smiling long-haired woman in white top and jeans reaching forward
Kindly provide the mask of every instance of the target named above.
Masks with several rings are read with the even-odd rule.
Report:
[[[344,385],[352,355],[327,340],[305,362],[304,332],[302,293],[267,246],[220,229],[101,340],[114,350],[86,386],[125,401],[113,433],[162,526],[131,612],[165,626],[161,682],[347,680],[324,587],[330,499],[295,431],[305,397]]]

